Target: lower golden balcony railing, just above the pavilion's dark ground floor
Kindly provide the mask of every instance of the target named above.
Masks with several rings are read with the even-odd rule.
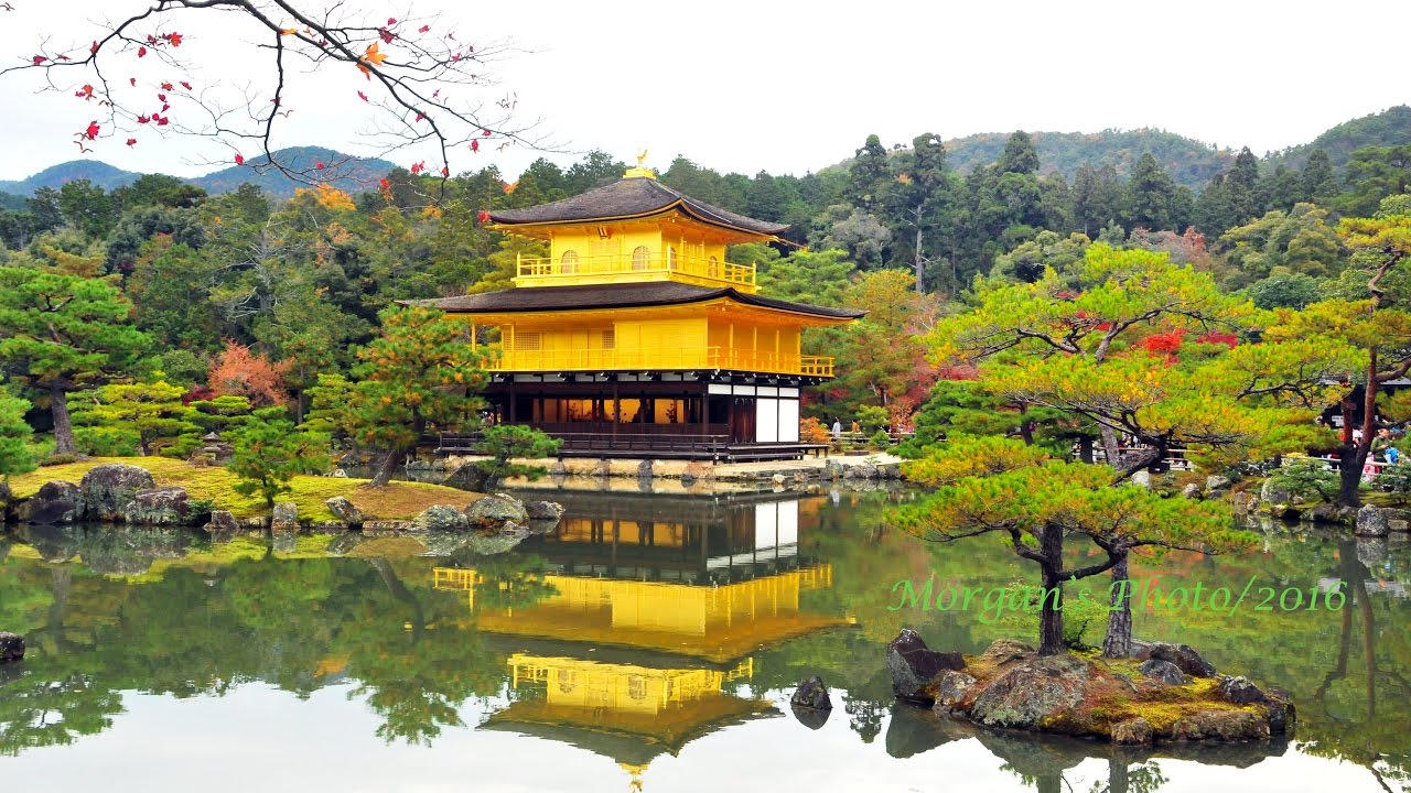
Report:
[[[832,377],[831,356],[725,347],[502,350],[491,371],[735,370]]]

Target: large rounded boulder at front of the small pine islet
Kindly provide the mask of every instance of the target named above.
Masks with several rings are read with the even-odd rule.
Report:
[[[1072,655],[1036,656],[1002,672],[971,706],[988,727],[1029,730],[1082,701],[1092,666]]]

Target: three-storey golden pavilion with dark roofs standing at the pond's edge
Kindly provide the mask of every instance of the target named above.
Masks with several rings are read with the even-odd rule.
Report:
[[[864,312],[759,293],[728,246],[787,226],[686,196],[638,164],[622,179],[552,203],[488,213],[549,244],[521,257],[515,288],[423,301],[499,333],[484,391],[495,420],[563,439],[562,454],[790,459],[800,388],[832,377],[804,356],[806,327]]]

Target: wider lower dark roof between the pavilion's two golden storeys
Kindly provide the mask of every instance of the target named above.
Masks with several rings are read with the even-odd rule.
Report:
[[[518,313],[570,309],[628,309],[642,306],[674,306],[703,303],[717,298],[729,298],[746,306],[780,309],[828,319],[858,319],[868,312],[834,309],[810,303],[792,303],[759,295],[737,292],[731,286],[697,286],[676,281],[652,281],[648,284],[600,284],[584,286],[532,286],[501,289],[480,295],[439,298],[432,301],[406,301],[409,305],[429,306],[444,312],[460,313]]]

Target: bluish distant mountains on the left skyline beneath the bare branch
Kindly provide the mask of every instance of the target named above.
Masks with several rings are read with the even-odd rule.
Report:
[[[396,168],[395,164],[387,159],[357,159],[332,148],[313,145],[284,148],[277,151],[275,157],[292,169],[323,171],[320,181],[327,181],[347,193],[360,193],[377,188],[377,181],[385,176],[392,168]],[[212,195],[234,190],[246,182],[251,182],[261,190],[277,198],[289,198],[295,189],[308,186],[303,182],[296,182],[285,176],[277,169],[268,169],[261,174],[260,167],[267,162],[268,159],[264,157],[251,157],[244,165],[231,165],[205,176],[183,181],[203,188]],[[322,169],[317,168],[320,162],[325,164]],[[45,168],[28,179],[0,182],[0,193],[31,196],[40,188],[58,189],[65,182],[75,179],[87,179],[104,190],[111,190],[135,182],[138,176],[141,174],[123,171],[97,159],[73,159]]]

